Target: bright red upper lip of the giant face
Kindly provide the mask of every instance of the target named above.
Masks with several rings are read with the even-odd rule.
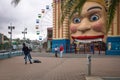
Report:
[[[104,38],[104,35],[98,36],[72,36],[72,39],[79,39],[79,40],[86,40],[86,39],[97,39],[97,38]]]

